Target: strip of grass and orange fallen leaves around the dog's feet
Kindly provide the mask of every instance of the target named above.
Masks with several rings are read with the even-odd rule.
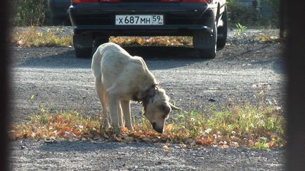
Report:
[[[32,114],[29,121],[11,125],[11,139],[44,139],[103,142],[149,142],[174,143],[182,148],[219,146],[223,149],[244,146],[268,150],[286,144],[285,118],[280,108],[264,98],[264,90],[257,95],[257,105],[223,104],[209,105],[205,111],[184,111],[172,114],[164,133],[152,130],[144,116],[134,118],[134,131],[126,128],[118,134],[100,129],[100,119],[84,116],[77,111],[48,113],[40,108],[40,114]],[[164,151],[168,152],[167,146]]]

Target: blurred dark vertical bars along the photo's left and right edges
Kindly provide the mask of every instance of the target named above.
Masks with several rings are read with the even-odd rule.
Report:
[[[296,2],[296,3],[294,3]],[[0,6],[0,170],[8,170],[7,116],[8,79],[8,0]],[[281,1],[281,34],[287,32],[284,57],[287,68],[287,170],[305,168],[305,1]]]

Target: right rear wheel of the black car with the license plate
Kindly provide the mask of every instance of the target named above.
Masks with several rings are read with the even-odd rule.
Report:
[[[213,33],[195,32],[193,46],[200,50],[200,57],[214,58],[216,56],[217,27],[214,23]]]

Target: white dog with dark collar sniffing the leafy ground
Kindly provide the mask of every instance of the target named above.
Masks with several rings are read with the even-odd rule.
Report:
[[[115,43],[105,43],[93,55],[91,68],[96,78],[96,92],[103,107],[103,127],[108,128],[108,109],[115,129],[131,123],[130,100],[141,102],[144,116],[152,128],[162,133],[171,110],[180,110],[157,86],[142,57],[131,56]],[[107,105],[108,104],[108,105]],[[124,116],[124,121],[122,116]]]

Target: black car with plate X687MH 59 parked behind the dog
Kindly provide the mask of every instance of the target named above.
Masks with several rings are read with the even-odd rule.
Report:
[[[69,13],[77,57],[109,36],[193,36],[203,57],[226,45],[226,0],[72,0]]]

